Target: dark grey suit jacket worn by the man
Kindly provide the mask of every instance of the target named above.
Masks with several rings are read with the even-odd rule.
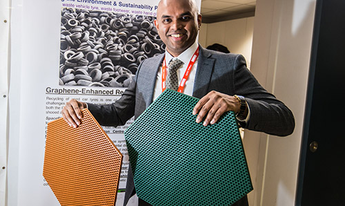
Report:
[[[242,95],[250,108],[248,124],[241,126],[273,135],[289,135],[295,128],[293,113],[268,93],[246,67],[242,55],[218,53],[199,46],[200,53],[193,96],[201,98],[210,91]],[[164,55],[146,59],[119,100],[113,104],[88,104],[99,124],[118,126],[134,115],[137,118],[152,103],[155,80]],[[132,172],[128,171],[125,204],[135,192]]]

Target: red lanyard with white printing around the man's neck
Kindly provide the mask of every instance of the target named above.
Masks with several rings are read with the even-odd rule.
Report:
[[[197,60],[197,57],[199,57],[199,46],[197,47],[197,50],[195,50],[195,53],[192,56],[192,58],[190,59],[186,72],[184,73],[184,77],[181,79],[181,83],[179,83],[179,89],[177,90],[179,93],[183,93],[184,86],[186,86],[186,82],[190,75],[190,71],[192,70],[194,63]],[[165,90],[166,90],[166,57],[164,57],[163,65],[161,66],[161,92],[164,92]]]

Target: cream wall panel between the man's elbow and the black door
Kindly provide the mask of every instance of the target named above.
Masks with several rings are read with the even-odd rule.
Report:
[[[246,133],[259,144],[255,205],[295,205],[315,0],[258,0],[251,71],[295,115],[292,135]],[[259,141],[258,141],[259,140]]]

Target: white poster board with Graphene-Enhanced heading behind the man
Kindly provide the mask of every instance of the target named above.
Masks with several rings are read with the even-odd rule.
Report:
[[[126,89],[130,81],[127,79],[130,79],[135,73],[132,56],[141,60],[145,58],[143,53],[135,55],[133,51],[130,51],[131,46],[128,46],[123,48],[124,53],[121,53],[121,59],[119,59],[119,54],[115,51],[117,49],[113,49],[114,51],[111,54],[108,53],[112,57],[108,57],[108,61],[103,60],[101,62],[101,59],[105,59],[101,55],[102,50],[98,50],[99,53],[97,53],[92,49],[95,49],[95,47],[99,49],[97,45],[101,44],[105,46],[106,42],[101,38],[111,37],[112,34],[103,31],[103,36],[102,32],[100,32],[99,36],[97,36],[98,34],[95,36],[95,40],[99,40],[101,44],[88,44],[88,40],[81,40],[86,36],[77,27],[81,25],[81,22],[79,22],[79,25],[75,25],[73,21],[66,21],[70,15],[66,15],[66,19],[63,17],[66,13],[71,13],[75,16],[70,19],[79,18],[79,20],[85,20],[85,14],[84,17],[81,17],[79,13],[98,14],[97,17],[92,16],[94,21],[90,22],[89,27],[100,30],[103,28],[103,24],[100,23],[108,21],[106,17],[103,18],[104,14],[108,14],[108,16],[115,13],[124,14],[130,16],[130,18],[144,15],[152,20],[150,16],[154,17],[156,15],[155,10],[157,9],[158,1],[145,0],[138,3],[133,0],[13,0],[11,3],[11,7],[8,8],[11,11],[11,36],[9,42],[11,50],[10,106],[8,106],[10,113],[8,117],[8,135],[10,141],[8,143],[9,167],[6,204],[59,205],[42,176],[45,135],[48,122],[60,118],[62,107],[72,98],[97,104],[116,101]],[[198,1],[198,6],[200,3],[201,1]],[[77,10],[79,13],[77,13]],[[150,28],[152,24],[148,24],[144,20],[141,19],[140,26]],[[63,24],[66,22],[69,23],[68,26],[70,28],[66,28],[66,26],[63,28]],[[112,23],[115,24],[115,21],[112,21]],[[122,23],[124,24],[124,22]],[[130,24],[128,22],[125,23]],[[132,28],[134,26],[124,25],[124,28]],[[75,30],[71,31],[72,27],[75,27]],[[153,27],[150,29],[152,30]],[[66,33],[66,30],[70,30],[70,34]],[[113,31],[118,33],[124,32],[121,28]],[[93,35],[91,33],[89,31],[88,37]],[[142,36],[139,29],[136,32],[132,32],[129,37],[132,35]],[[129,37],[128,41],[130,41]],[[157,36],[152,32],[146,33],[145,37],[144,39],[147,39],[146,42],[143,41],[144,44],[146,43],[145,46],[143,46],[144,44],[140,45],[144,51],[150,50],[152,45],[155,47],[157,42],[159,42]],[[155,39],[155,37],[157,41],[152,42],[151,39]],[[119,37],[119,40],[113,42],[121,43],[121,41],[124,41],[123,38]],[[77,41],[78,39],[79,41]],[[125,43],[128,43],[128,41]],[[65,51],[63,51],[66,49],[64,47],[66,46],[65,42],[74,45],[73,49],[75,50],[72,50],[73,53],[65,54]],[[133,44],[135,43],[133,42]],[[85,50],[87,51],[86,53],[84,53]],[[152,55],[158,52],[154,49],[151,50]],[[83,57],[80,57],[80,52],[83,53]],[[101,58],[94,61],[95,55],[92,52],[100,55]],[[131,55],[125,55],[125,52]],[[90,54],[88,55],[88,53]],[[72,61],[70,61],[70,58]],[[88,64],[84,65],[86,61],[81,59],[88,60]],[[68,62],[67,66],[66,61]],[[102,72],[101,79],[95,80],[94,78],[99,78],[99,71],[101,71],[99,65],[103,68],[103,71],[107,70],[108,74]],[[119,65],[122,67],[115,68]],[[75,68],[78,66],[80,68]],[[87,74],[83,71],[85,68],[83,66],[88,66]],[[69,69],[74,70],[75,73],[72,73]],[[74,77],[70,74],[74,75]],[[106,81],[108,84],[101,81],[105,77],[102,77],[102,75],[112,77]],[[92,84],[90,82],[95,84],[90,85]],[[123,133],[132,121],[129,120],[126,125],[117,128],[103,127],[112,142],[124,155],[116,205],[122,205],[124,201],[129,163]],[[133,199],[128,205],[136,205],[136,201]]]

